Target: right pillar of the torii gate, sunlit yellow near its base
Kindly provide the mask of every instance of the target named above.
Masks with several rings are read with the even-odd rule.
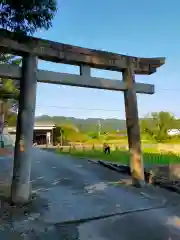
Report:
[[[127,90],[124,91],[124,101],[132,183],[141,187],[145,185],[144,164],[141,152],[137,96],[134,89],[135,74],[131,64],[123,71],[123,81],[127,84]]]

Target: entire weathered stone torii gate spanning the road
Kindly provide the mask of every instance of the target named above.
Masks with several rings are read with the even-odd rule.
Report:
[[[138,58],[76,47],[34,37],[22,37],[0,30],[0,52],[23,57],[22,68],[0,65],[0,77],[20,80],[19,113],[14,153],[11,198],[14,203],[30,197],[31,148],[37,81],[124,92],[131,172],[134,183],[144,184],[140,128],[136,93],[153,94],[154,85],[136,83],[135,74],[150,75],[165,58]],[[55,73],[37,69],[38,58],[80,67],[80,74]],[[122,72],[123,80],[91,77],[91,68]],[[21,144],[24,151],[21,151]]]

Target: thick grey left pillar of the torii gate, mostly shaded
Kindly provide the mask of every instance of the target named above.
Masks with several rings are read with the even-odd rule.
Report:
[[[30,199],[31,151],[36,105],[37,63],[38,59],[36,56],[28,54],[23,57],[11,185],[11,201],[14,204],[23,204]]]

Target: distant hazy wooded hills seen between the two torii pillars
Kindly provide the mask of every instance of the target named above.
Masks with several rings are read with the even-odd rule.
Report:
[[[36,122],[46,122],[60,124],[72,124],[75,125],[80,131],[97,131],[98,127],[101,127],[101,131],[117,131],[126,129],[126,121],[120,119],[101,119],[101,118],[73,118],[73,117],[63,117],[63,116],[48,116],[42,115],[36,117]]]

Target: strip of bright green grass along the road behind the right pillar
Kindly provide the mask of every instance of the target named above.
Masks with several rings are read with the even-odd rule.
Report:
[[[118,162],[122,164],[128,164],[129,152],[125,150],[116,150],[111,152],[110,155],[105,155],[101,150],[75,150],[63,152],[57,150],[61,154],[70,154],[77,157],[85,157],[91,159],[106,160],[111,162]],[[180,163],[180,154],[175,153],[163,153],[157,152],[155,149],[146,149],[143,151],[143,159],[145,164],[169,164],[169,163]]]

